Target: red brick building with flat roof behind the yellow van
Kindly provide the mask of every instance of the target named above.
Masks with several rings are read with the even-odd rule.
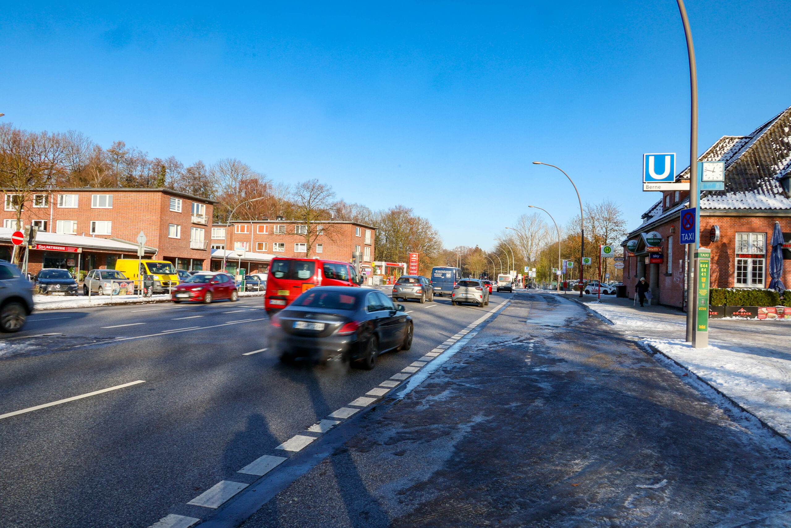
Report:
[[[4,195],[0,258],[7,259],[9,231],[19,228],[18,198],[13,192]],[[215,203],[163,188],[63,188],[36,193],[25,203],[22,224],[38,226],[40,241],[47,243],[31,250],[28,269],[114,268],[119,258],[136,258],[130,248],[140,231],[146,234],[147,258],[169,260],[186,270],[208,269]]]

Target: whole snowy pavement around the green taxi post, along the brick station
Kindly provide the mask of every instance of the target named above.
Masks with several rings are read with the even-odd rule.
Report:
[[[632,306],[585,303],[624,334],[673,359],[791,441],[789,325],[744,321],[736,329],[711,329],[710,347],[684,341],[683,314],[642,312]]]

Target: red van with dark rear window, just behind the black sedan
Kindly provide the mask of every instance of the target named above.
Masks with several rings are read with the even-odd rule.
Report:
[[[337,260],[274,258],[267,275],[263,307],[274,313],[289,306],[303,291],[315,286],[359,287],[362,277],[348,262]]]

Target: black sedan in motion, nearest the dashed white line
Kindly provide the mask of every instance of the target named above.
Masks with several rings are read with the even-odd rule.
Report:
[[[373,369],[388,350],[412,346],[412,317],[378,290],[315,287],[270,320],[269,348],[284,362],[339,360]]]

